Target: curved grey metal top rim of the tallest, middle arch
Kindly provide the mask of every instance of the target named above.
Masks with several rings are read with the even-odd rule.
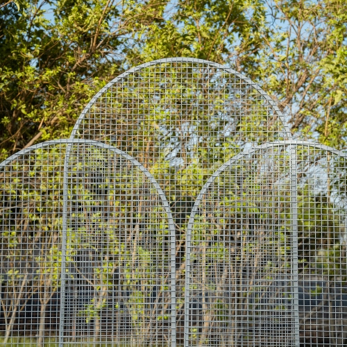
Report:
[[[88,112],[88,110],[90,110],[92,105],[96,102],[96,99],[98,99],[99,96],[101,96],[101,94],[106,92],[108,90],[108,88],[112,87],[112,85],[121,81],[123,78],[127,77],[128,75],[132,74],[133,72],[139,71],[145,67],[151,67],[152,65],[155,65],[155,64],[161,64],[161,63],[167,63],[167,62],[203,63],[203,64],[211,65],[212,67],[218,67],[219,69],[222,69],[222,70],[224,70],[230,74],[235,74],[235,76],[244,80],[248,85],[251,85],[252,87],[254,87],[255,90],[257,90],[257,92],[262,94],[262,96],[264,96],[264,98],[267,101],[269,101],[270,105],[273,106],[273,110],[275,110],[277,112],[278,117],[282,121],[282,124],[285,128],[285,132],[286,132],[287,137],[289,139],[292,138],[291,131],[289,130],[289,126],[288,126],[287,122],[285,121],[285,117],[282,114],[282,112],[280,111],[280,109],[278,108],[278,106],[276,105],[276,103],[271,99],[271,97],[268,94],[266,94],[266,92],[264,92],[264,90],[262,90],[262,88],[259,85],[257,85],[257,83],[251,81],[250,78],[244,76],[243,74],[240,74],[239,72],[235,71],[234,69],[231,69],[230,67],[226,67],[224,65],[218,64],[217,62],[211,62],[210,60],[203,60],[203,59],[196,59],[196,58],[177,57],[177,58],[164,58],[164,59],[153,60],[151,62],[145,62],[142,65],[138,65],[137,67],[133,67],[132,69],[125,71],[123,74],[117,76],[112,81],[110,81],[107,85],[105,85],[105,87],[103,87],[101,90],[99,90],[99,92],[97,92],[92,97],[92,100],[90,100],[90,102],[87,104],[87,106],[85,106],[84,110],[81,112],[81,115],[78,117],[76,124],[74,125],[74,128],[71,131],[70,139],[73,139],[77,135],[78,127],[81,124],[81,121],[84,119],[86,113]]]

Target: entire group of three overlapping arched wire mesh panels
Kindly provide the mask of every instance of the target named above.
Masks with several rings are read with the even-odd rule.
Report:
[[[0,341],[346,346],[346,158],[232,69],[126,71],[0,164]]]

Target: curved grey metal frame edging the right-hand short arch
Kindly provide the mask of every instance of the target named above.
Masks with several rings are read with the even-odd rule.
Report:
[[[192,208],[192,212],[190,214],[189,217],[189,222],[188,222],[188,226],[187,226],[187,235],[186,235],[186,272],[185,272],[185,347],[188,346],[187,344],[187,323],[188,323],[188,319],[189,319],[189,273],[190,273],[190,252],[188,251],[190,249],[191,246],[191,242],[192,242],[192,226],[194,223],[194,218],[198,209],[198,205],[200,205],[201,200],[203,198],[203,195],[205,194],[205,192],[207,191],[208,187],[210,187],[211,183],[214,181],[215,178],[217,178],[219,176],[219,174],[221,174],[221,172],[223,172],[225,169],[227,169],[228,167],[230,167],[230,165],[234,164],[235,162],[237,162],[237,160],[243,158],[244,156],[248,155],[248,154],[253,154],[257,151],[260,151],[261,149],[271,149],[271,148],[276,148],[276,147],[280,147],[280,146],[312,146],[315,147],[317,149],[321,149],[323,151],[329,151],[330,153],[333,153],[335,155],[339,155],[342,158],[347,158],[347,153],[344,153],[344,151],[338,151],[336,149],[333,149],[330,146],[325,146],[324,144],[317,144],[314,142],[309,142],[309,141],[296,141],[296,140],[287,140],[287,141],[277,141],[277,142],[268,142],[266,144],[261,144],[259,146],[255,146],[251,149],[247,149],[245,151],[243,151],[242,153],[239,153],[237,155],[235,155],[234,157],[232,157],[230,160],[228,160],[228,162],[226,162],[225,164],[221,165],[221,167],[219,167],[219,169],[217,169],[216,171],[214,171],[214,173],[212,174],[212,176],[210,176],[210,178],[206,181],[205,185],[203,186],[203,188],[201,189],[201,192],[198,194],[196,201],[194,203],[194,206]],[[294,202],[295,204],[295,202]],[[295,274],[294,274],[295,276]],[[297,279],[296,279],[297,281]],[[295,288],[294,288],[295,289]],[[295,299],[295,298],[294,298]],[[296,307],[298,306],[297,303],[294,304],[296,305]],[[296,322],[296,326],[297,326],[297,330],[298,330],[298,323]],[[296,332],[296,335],[298,335],[298,331]],[[298,346],[299,344],[299,340],[298,340],[298,336],[296,336],[296,346]]]

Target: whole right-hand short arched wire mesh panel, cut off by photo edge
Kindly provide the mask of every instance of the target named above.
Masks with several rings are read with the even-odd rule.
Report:
[[[223,165],[189,221],[186,346],[345,346],[346,158],[266,144]]]

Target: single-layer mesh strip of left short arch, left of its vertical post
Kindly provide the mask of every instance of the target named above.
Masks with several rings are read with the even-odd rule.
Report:
[[[0,167],[1,332],[5,346],[56,342],[65,149],[29,149]]]

